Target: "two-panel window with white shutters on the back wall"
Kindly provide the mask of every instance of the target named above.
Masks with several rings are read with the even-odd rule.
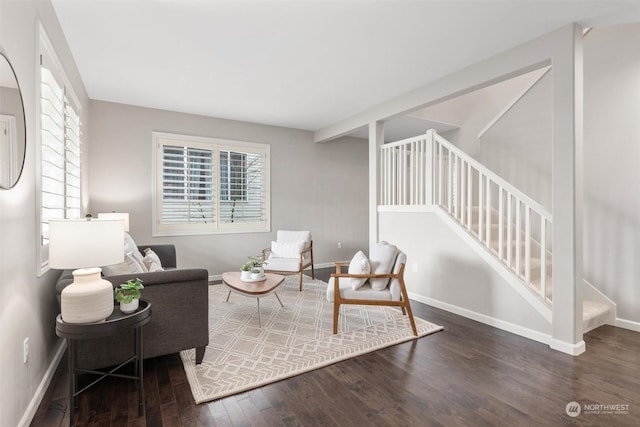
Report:
[[[268,231],[269,146],[154,132],[154,235]]]

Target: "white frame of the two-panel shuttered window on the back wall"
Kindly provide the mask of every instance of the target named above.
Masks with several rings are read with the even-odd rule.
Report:
[[[185,134],[152,132],[153,159],[153,191],[152,191],[152,236],[183,236],[207,235],[225,233],[264,233],[271,231],[271,191],[270,191],[270,145],[256,142],[236,141],[221,138],[192,136]],[[163,147],[186,146],[212,152],[212,222],[162,224],[163,208]],[[220,194],[220,152],[231,151],[239,153],[256,153],[263,156],[262,165],[262,209],[261,221],[254,222],[220,222],[221,200]],[[242,202],[245,203],[245,202]]]

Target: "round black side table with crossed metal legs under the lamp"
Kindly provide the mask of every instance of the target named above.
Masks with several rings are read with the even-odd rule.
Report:
[[[62,315],[56,317],[56,334],[67,340],[67,351],[69,353],[69,425],[74,424],[74,414],[76,407],[76,398],[78,395],[88,388],[92,387],[105,377],[120,377],[136,380],[138,389],[138,414],[144,415],[144,384],[143,384],[143,347],[142,347],[142,326],[151,320],[151,303],[149,301],[140,300],[138,310],[130,314],[124,314],[118,306],[115,307],[111,316],[104,322],[98,323],[65,323]],[[117,367],[109,371],[95,371],[78,369],[76,366],[76,341],[83,339],[98,338],[107,335],[115,335],[128,329],[135,330],[134,355],[128,360],[123,361]],[[123,366],[134,363],[134,374],[124,375],[118,374]],[[90,373],[99,375],[99,377],[78,390],[78,374]]]

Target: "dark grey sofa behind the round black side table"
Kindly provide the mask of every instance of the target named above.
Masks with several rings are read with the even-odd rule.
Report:
[[[141,252],[151,248],[165,271],[105,277],[114,287],[139,277],[142,298],[151,302],[151,321],[144,326],[144,358],[196,349],[196,363],[201,363],[209,344],[209,273],[205,269],[176,269],[173,245],[138,246]],[[56,284],[60,292],[73,282],[71,270],[62,272]],[[117,310],[117,307],[116,307]],[[133,355],[133,331],[130,337],[109,336],[81,340],[77,345],[78,367],[96,369],[122,363]]]

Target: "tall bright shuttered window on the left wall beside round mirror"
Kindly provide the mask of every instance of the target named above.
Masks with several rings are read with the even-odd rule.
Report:
[[[40,251],[48,264],[49,221],[81,216],[79,102],[44,30],[40,28]]]

